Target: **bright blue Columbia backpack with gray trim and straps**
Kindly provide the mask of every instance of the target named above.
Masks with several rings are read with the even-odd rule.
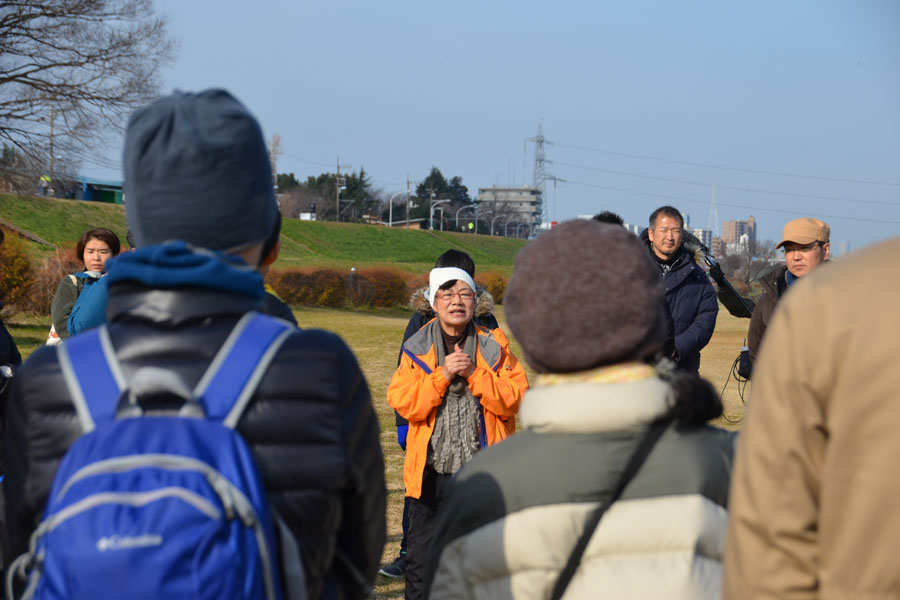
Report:
[[[235,326],[191,391],[144,367],[126,381],[106,327],[60,346],[84,435],[60,463],[17,573],[23,598],[280,600],[265,491],[235,427],[293,327],[256,313]],[[281,529],[284,596],[305,595]]]

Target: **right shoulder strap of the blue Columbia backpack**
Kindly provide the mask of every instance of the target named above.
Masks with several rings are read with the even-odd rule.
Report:
[[[278,348],[295,330],[281,319],[244,315],[194,389],[206,416],[234,429]]]

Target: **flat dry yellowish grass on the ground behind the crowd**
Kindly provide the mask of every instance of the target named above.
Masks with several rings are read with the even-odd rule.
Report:
[[[350,311],[322,308],[302,308],[294,311],[297,321],[305,328],[327,329],[338,333],[353,349],[360,366],[369,382],[372,401],[381,424],[381,445],[384,450],[388,487],[388,543],[384,549],[383,562],[392,560],[400,546],[400,517],[403,509],[403,452],[397,445],[394,427],[394,413],[385,400],[387,386],[397,366],[400,340],[409,319],[405,309]],[[503,307],[497,307],[497,318],[501,327],[509,334]],[[30,354],[47,337],[50,328],[46,318],[17,315],[7,323],[23,354]],[[717,390],[722,390],[728,381],[731,365],[740,352],[746,336],[747,319],[736,319],[724,309],[719,312],[716,332],[709,346],[703,351],[701,374]],[[521,357],[518,343],[510,335],[512,350]],[[527,369],[529,378],[534,373]],[[749,391],[749,389],[747,390]],[[743,404],[737,393],[736,382],[728,383],[724,394],[725,418],[716,425],[735,429],[743,415]],[[389,580],[379,577],[377,598],[402,598],[403,580]]]

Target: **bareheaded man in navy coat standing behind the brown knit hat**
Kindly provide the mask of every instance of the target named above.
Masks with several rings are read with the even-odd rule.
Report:
[[[700,370],[700,350],[716,328],[719,303],[709,278],[684,248],[684,218],[678,209],[662,206],[650,215],[641,233],[663,275],[666,303],[675,332],[673,359],[679,369]]]

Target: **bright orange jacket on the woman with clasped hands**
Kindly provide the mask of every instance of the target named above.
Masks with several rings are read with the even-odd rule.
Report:
[[[500,329],[488,331],[475,326],[475,372],[467,378],[469,391],[478,400],[481,412],[481,446],[492,446],[516,430],[516,413],[528,388],[525,368],[509,350],[509,341]],[[421,328],[403,345],[400,366],[388,386],[388,404],[409,421],[403,483],[406,495],[419,498],[422,475],[428,457],[428,442],[434,431],[438,406],[450,382],[437,364],[431,327]]]

